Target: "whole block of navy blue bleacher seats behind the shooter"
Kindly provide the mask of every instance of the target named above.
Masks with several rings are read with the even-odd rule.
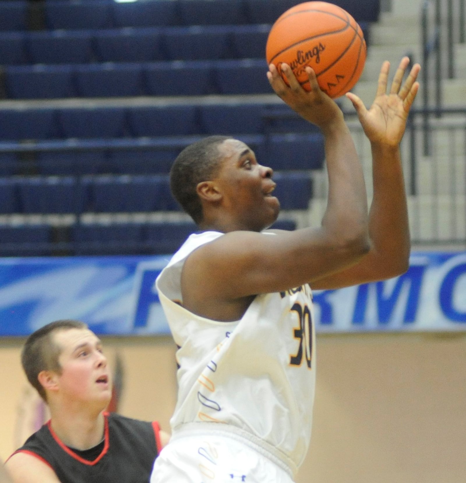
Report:
[[[285,216],[306,210],[322,136],[278,98],[253,99],[273,94],[268,31],[297,3],[1,1],[0,97],[11,103],[0,106],[0,255],[173,252],[196,228],[170,195],[169,168],[210,134],[246,142],[275,170]],[[368,42],[380,1],[334,3]],[[106,99],[80,104],[91,98]]]

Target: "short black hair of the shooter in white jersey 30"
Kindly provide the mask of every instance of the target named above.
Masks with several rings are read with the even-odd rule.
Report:
[[[209,136],[185,147],[170,170],[170,189],[195,223],[202,222],[202,205],[196,191],[202,181],[210,181],[220,168],[219,144],[230,136]]]

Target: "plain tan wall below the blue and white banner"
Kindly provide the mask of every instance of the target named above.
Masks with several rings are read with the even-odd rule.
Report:
[[[466,334],[319,336],[311,450],[297,483],[465,483]],[[0,455],[14,449],[22,340],[0,342]],[[167,429],[170,338],[105,339],[123,359],[120,412]]]

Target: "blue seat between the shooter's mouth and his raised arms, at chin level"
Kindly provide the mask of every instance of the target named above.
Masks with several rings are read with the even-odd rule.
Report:
[[[281,172],[273,175],[277,187],[273,194],[282,210],[307,210],[312,198],[312,180],[307,172]]]

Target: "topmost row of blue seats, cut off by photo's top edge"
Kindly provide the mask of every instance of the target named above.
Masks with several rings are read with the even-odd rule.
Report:
[[[0,2],[0,30],[26,30],[28,0]],[[45,0],[39,5],[43,27],[120,28],[190,25],[273,24],[296,0]],[[358,22],[377,21],[379,1],[335,0]],[[37,10],[37,5],[34,6]]]

